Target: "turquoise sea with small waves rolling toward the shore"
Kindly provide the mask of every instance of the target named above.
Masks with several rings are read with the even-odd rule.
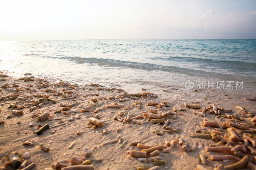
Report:
[[[0,41],[1,70],[128,92],[175,87],[255,95],[256,40]]]

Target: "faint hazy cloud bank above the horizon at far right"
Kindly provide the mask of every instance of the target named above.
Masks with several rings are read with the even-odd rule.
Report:
[[[255,37],[256,11],[239,13],[216,13],[210,9],[201,17],[191,20],[187,29],[193,36],[207,38],[253,38]],[[208,35],[211,34],[211,37]]]

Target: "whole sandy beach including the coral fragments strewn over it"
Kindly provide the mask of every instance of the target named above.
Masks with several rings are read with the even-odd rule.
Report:
[[[256,96],[173,86],[161,87],[161,94],[147,89],[131,94],[118,87],[5,75],[0,75],[0,169],[21,163],[33,170],[221,169],[221,164],[229,169],[242,158],[238,169],[256,169],[256,101],[244,100]],[[218,152],[212,152],[216,146]],[[9,160],[13,152],[16,158]],[[211,160],[213,155],[230,156]],[[81,163],[88,165],[73,167]]]

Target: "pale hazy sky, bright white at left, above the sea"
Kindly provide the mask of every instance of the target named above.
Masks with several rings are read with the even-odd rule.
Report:
[[[136,38],[256,39],[256,1],[0,1],[0,41]]]

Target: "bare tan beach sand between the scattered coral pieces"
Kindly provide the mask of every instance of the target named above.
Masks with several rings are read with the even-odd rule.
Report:
[[[5,74],[6,73],[4,73],[4,75]],[[70,159],[72,157],[81,159],[81,161],[91,160],[90,165],[93,165],[95,169],[99,170],[137,169],[138,167],[143,166],[147,169],[155,166],[153,162],[148,163],[147,159],[145,159],[146,162],[143,162],[143,159],[140,162],[137,158],[132,159],[131,157],[130,159],[127,159],[131,150],[141,151],[141,149],[136,145],[130,145],[132,142],[141,142],[142,144],[150,145],[152,147],[163,145],[164,150],[160,150],[160,153],[156,155],[160,156],[166,163],[165,165],[158,165],[160,169],[196,169],[198,164],[204,166],[206,169],[213,169],[214,166],[220,164],[227,166],[237,162],[237,160],[210,160],[210,155],[232,155],[234,153],[206,152],[205,148],[208,147],[209,144],[217,144],[218,140],[189,137],[192,134],[203,134],[202,132],[195,132],[197,129],[196,126],[200,129],[205,128],[204,130],[210,132],[217,128],[217,131],[222,132],[222,135],[219,135],[220,138],[223,138],[225,134],[228,137],[230,136],[227,129],[222,127],[223,122],[247,123],[247,127],[250,125],[250,128],[256,129],[254,127],[254,123],[251,122],[252,120],[248,121],[247,119],[253,118],[249,116],[249,114],[250,112],[255,114],[256,101],[244,100],[245,97],[253,98],[255,96],[244,96],[243,94],[240,96],[232,96],[229,94],[223,94],[221,91],[211,90],[199,90],[198,92],[194,92],[194,90],[186,91],[184,89],[175,90],[172,86],[167,86],[159,88],[172,92],[164,91],[161,94],[150,94],[149,92],[149,95],[144,95],[147,90],[143,90],[137,92],[140,94],[143,93],[138,99],[134,100],[130,97],[118,99],[119,95],[124,94],[123,91],[118,92],[116,89],[108,90],[106,87],[100,87],[100,85],[71,86],[71,84],[68,84],[67,82],[63,82],[62,84],[61,82],[52,83],[51,80],[43,78],[42,81],[35,78],[34,80],[26,82],[24,82],[24,80],[16,81],[17,78],[14,77],[0,77],[0,79],[1,78],[5,78],[6,81],[0,81],[0,100],[2,100],[0,101],[0,121],[4,121],[4,123],[0,125],[0,158],[2,159],[0,166],[4,166],[5,164],[6,169],[12,169],[12,167],[7,166],[7,162],[5,162],[4,157],[7,157],[8,159],[8,155],[14,151],[18,152],[20,155],[23,155],[25,152],[29,152],[30,157],[27,160],[36,164],[36,167],[34,167],[33,170],[52,169],[57,162],[64,166],[75,165],[70,163]],[[13,87],[15,85],[18,87]],[[3,86],[10,88],[6,89]],[[102,90],[99,90],[101,88]],[[46,89],[51,89],[54,92],[45,92],[47,91]],[[59,93],[60,95],[57,95],[57,92],[62,92],[63,89],[65,89],[65,92],[71,91],[72,93],[70,93],[70,95],[77,93],[78,96],[73,99],[65,99],[61,97],[61,93]],[[55,95],[53,95],[53,93]],[[127,93],[129,94],[129,92]],[[33,96],[35,94],[41,95],[41,97]],[[95,94],[97,94],[97,96],[94,96]],[[15,100],[4,101],[4,99],[9,98],[12,95],[16,96]],[[35,105],[32,104],[34,103],[34,99],[44,98],[45,95],[49,95],[48,98],[56,101],[56,103],[54,104],[52,101],[45,100],[41,107],[36,107],[34,110],[30,111],[30,107],[35,107]],[[109,97],[112,98],[112,96],[113,99],[108,99]],[[205,98],[203,99],[203,97]],[[97,102],[91,102],[90,105],[90,100],[92,98],[97,98]],[[137,103],[135,104],[136,101]],[[147,105],[148,102],[154,101],[156,106]],[[71,107],[70,110],[66,110],[69,115],[63,114],[63,111],[56,114],[54,113],[54,111],[61,110],[62,106],[69,105],[74,102],[77,102],[77,104]],[[122,106],[122,108],[108,108],[98,111],[96,114],[99,116],[98,119],[103,122],[103,126],[95,127],[94,129],[93,125],[89,123],[89,119],[90,117],[95,116],[95,109],[115,105],[114,102],[116,102],[117,105]],[[163,105],[163,102],[166,102],[169,107],[158,108],[157,104]],[[185,107],[184,103],[200,105],[200,109]],[[14,110],[14,108],[8,108],[11,104],[16,104],[18,107],[24,106],[25,108],[20,109],[23,114],[21,116],[12,114],[12,110]],[[60,106],[60,104],[62,104],[62,106]],[[225,110],[232,109],[232,112],[229,113],[229,115],[236,115],[236,119],[228,119],[227,117],[217,116],[214,113],[209,114],[209,111],[204,113],[205,117],[200,116],[200,114],[194,114],[194,112],[196,113],[197,111],[202,110],[203,107],[210,107],[211,104],[224,108],[224,110],[220,111],[221,115],[225,115]],[[89,105],[91,107],[88,112],[80,112],[81,107],[87,107]],[[246,111],[236,108],[236,105],[244,107]],[[173,107],[178,111],[174,112]],[[127,110],[124,108],[127,108]],[[179,108],[184,108],[185,111],[179,111]],[[163,124],[154,124],[151,120],[147,121],[148,117],[132,120],[130,123],[125,121],[122,122],[122,118],[126,119],[128,116],[132,118],[138,115],[142,116],[143,114],[145,115],[150,113],[150,109],[157,110],[157,114],[162,116],[165,122],[170,120],[171,123],[169,124],[169,130],[172,130],[171,134],[161,131],[164,130]],[[172,114],[166,117],[164,114],[168,112],[170,113],[170,111]],[[38,115],[48,112],[50,114],[50,118],[40,122],[37,120],[37,116],[31,116],[32,112],[36,112]],[[118,116],[121,113],[122,116]],[[79,115],[80,118],[77,118],[77,115]],[[73,116],[75,119],[73,121],[68,121]],[[116,120],[114,120],[115,117]],[[176,119],[173,119],[173,117],[176,117]],[[203,127],[202,124],[204,123],[204,120],[217,122],[219,128]],[[33,124],[33,126],[30,126],[30,124]],[[39,129],[39,124],[41,127],[48,124],[50,129],[46,129],[41,135],[36,135],[36,131]],[[55,125],[60,126],[51,128]],[[116,130],[117,128],[119,131]],[[106,129],[106,134],[103,134],[103,129]],[[158,131],[156,133],[161,135],[154,133],[153,131],[155,130]],[[243,138],[243,132],[241,132],[241,130],[239,130],[237,135],[239,136],[239,140],[240,138]],[[122,143],[119,143],[120,138],[122,139]],[[186,151],[182,151],[181,146],[179,145],[180,138],[183,139],[183,147],[187,147]],[[117,139],[118,142],[102,145],[103,143],[115,139]],[[177,141],[174,147],[165,145],[165,141],[171,142],[172,140]],[[23,145],[26,141],[31,142],[34,146]],[[76,141],[76,143],[69,149],[70,144],[74,141]],[[39,144],[49,147],[49,152],[42,150],[39,147]],[[231,142],[230,144],[236,146],[238,144],[243,145],[244,142]],[[121,148],[120,146],[123,147]],[[249,146],[252,146],[252,144],[249,144]],[[88,157],[85,156],[85,152],[87,152],[86,156]],[[200,161],[200,154],[204,154],[207,158],[206,165],[203,165],[202,161]],[[249,149],[247,149],[247,152],[243,150],[243,152],[236,153],[236,155],[239,154],[240,157],[249,155],[252,158],[252,161],[254,161],[254,155],[251,154]],[[150,155],[147,154],[146,158],[150,158]],[[22,161],[23,160],[25,159],[22,159]],[[78,162],[79,161],[80,160],[78,160]]]

